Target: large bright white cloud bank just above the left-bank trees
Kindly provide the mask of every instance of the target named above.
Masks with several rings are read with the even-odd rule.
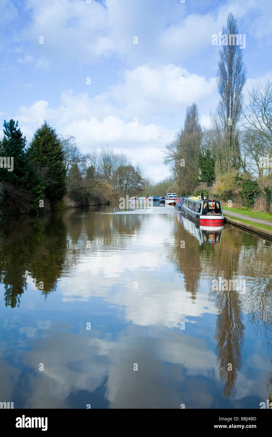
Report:
[[[180,83],[181,77],[185,84]],[[75,135],[84,149],[101,143],[125,144],[128,149],[148,143],[158,148],[174,134],[158,120],[168,112],[184,112],[193,101],[205,103],[208,97],[210,101],[217,99],[214,79],[205,80],[172,64],[158,68],[143,65],[125,70],[122,84],[93,98],[87,92],[73,95],[68,90],[62,93],[58,108],[39,100],[21,107],[17,117],[28,135],[35,130],[39,118],[44,118],[59,132]],[[156,122],[146,123],[146,118]]]

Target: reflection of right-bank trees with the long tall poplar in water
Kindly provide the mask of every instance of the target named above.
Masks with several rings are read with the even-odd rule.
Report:
[[[246,281],[245,295],[234,290],[211,292],[218,309],[214,338],[217,340],[220,380],[224,382],[224,395],[229,397],[241,369],[243,314],[248,314],[255,333],[262,329],[262,336],[271,343],[272,246],[270,242],[231,226],[225,226],[221,236],[210,231],[201,234],[199,226],[182,216],[179,221],[175,239],[184,240],[185,246],[183,249],[179,249],[178,244],[169,247],[169,258],[184,274],[186,290],[193,291],[193,299],[200,275],[210,281],[218,278],[228,281],[244,278]],[[191,288],[188,287],[190,284]],[[230,364],[232,370],[228,370]]]

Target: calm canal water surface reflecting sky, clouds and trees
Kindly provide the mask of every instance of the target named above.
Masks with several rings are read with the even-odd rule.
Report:
[[[0,401],[14,408],[269,398],[268,240],[200,229],[171,206],[72,209],[2,219],[0,275]]]

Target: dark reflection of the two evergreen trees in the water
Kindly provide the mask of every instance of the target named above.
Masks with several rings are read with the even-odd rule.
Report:
[[[0,281],[6,290],[6,306],[19,306],[28,275],[43,294],[55,290],[66,247],[66,229],[60,215],[3,221],[0,238]]]

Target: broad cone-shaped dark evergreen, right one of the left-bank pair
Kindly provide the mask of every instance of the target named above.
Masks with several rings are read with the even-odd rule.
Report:
[[[28,158],[45,182],[45,196],[54,205],[66,193],[66,170],[62,144],[55,129],[45,123],[37,129]]]

